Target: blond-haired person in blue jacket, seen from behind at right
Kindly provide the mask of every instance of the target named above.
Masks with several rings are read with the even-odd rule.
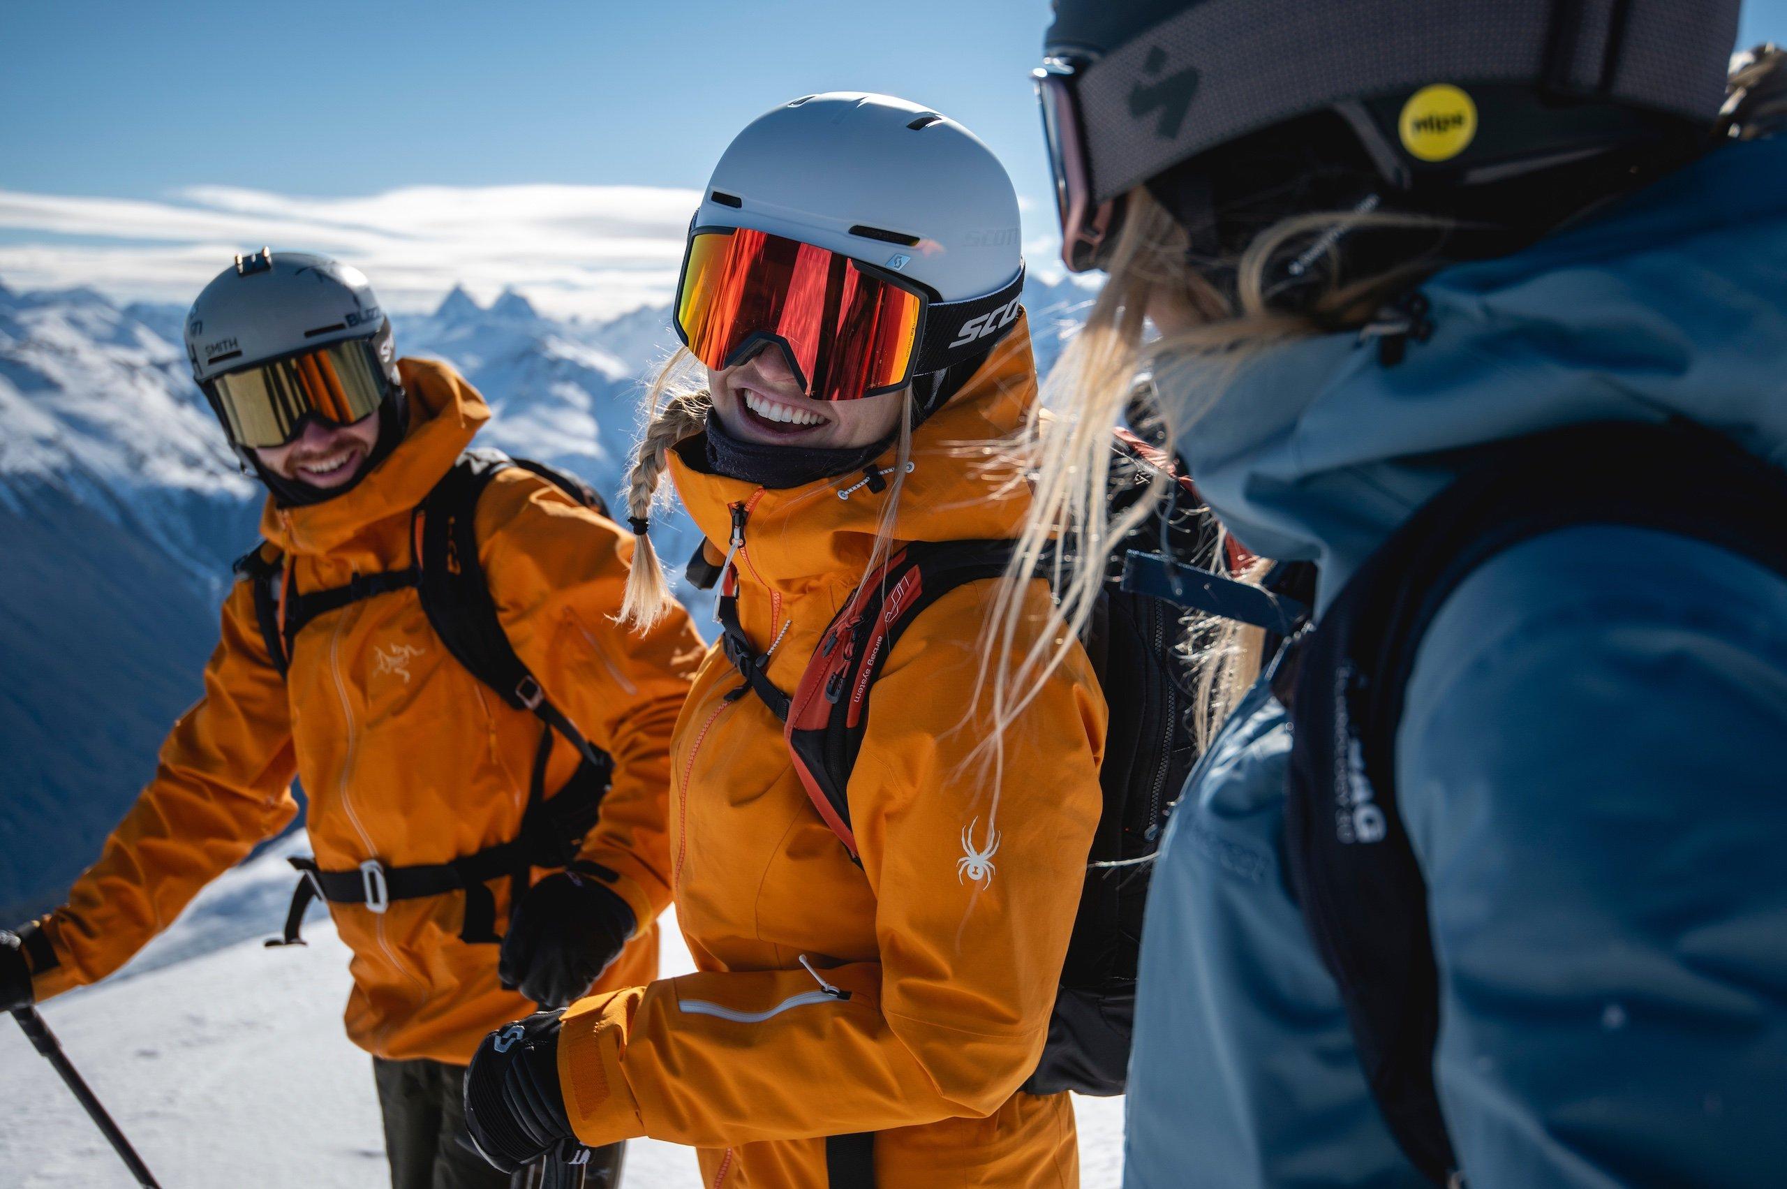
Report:
[[[1787,72],[1728,97],[1737,7],[1056,0],[1063,256],[1110,281],[1026,542],[1101,513],[1138,367],[1247,576],[1315,563],[1317,626],[1496,443],[1680,417],[1787,467]],[[1126,1184],[1430,1184],[1287,883],[1272,642],[1196,644],[1213,738],[1153,873]],[[1540,535],[1451,594],[1405,701],[1455,1184],[1787,1184],[1787,579]]]

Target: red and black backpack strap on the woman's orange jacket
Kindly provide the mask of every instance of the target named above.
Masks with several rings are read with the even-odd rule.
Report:
[[[876,569],[833,617],[801,674],[783,738],[813,808],[851,858],[847,794],[867,731],[868,696],[906,626],[951,590],[999,578],[1011,561],[1008,540],[913,542]]]

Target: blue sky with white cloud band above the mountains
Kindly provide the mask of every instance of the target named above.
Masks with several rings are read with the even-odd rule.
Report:
[[[488,295],[518,270],[545,306],[613,311],[658,295],[692,206],[683,191],[726,141],[824,89],[906,95],[979,132],[1042,247],[1053,207],[1026,75],[1047,9],[9,4],[0,279],[184,300],[229,250],[270,238],[363,257],[393,304],[459,277]],[[1787,0],[1746,9],[1744,43],[1787,39]],[[472,243],[499,222],[513,223],[502,243]]]

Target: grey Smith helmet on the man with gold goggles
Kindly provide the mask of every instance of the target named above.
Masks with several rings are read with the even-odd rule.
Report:
[[[366,275],[309,252],[238,256],[186,315],[186,358],[200,386],[245,367],[348,338],[384,336],[379,359],[397,384],[390,322]]]

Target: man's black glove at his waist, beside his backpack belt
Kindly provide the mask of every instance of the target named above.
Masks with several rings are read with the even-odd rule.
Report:
[[[559,871],[527,889],[509,915],[497,978],[543,1008],[583,998],[620,957],[636,921],[602,883]]]

